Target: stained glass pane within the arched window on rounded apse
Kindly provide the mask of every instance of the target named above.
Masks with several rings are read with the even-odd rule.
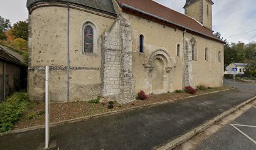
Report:
[[[93,29],[91,26],[85,27],[84,52],[93,53]]]

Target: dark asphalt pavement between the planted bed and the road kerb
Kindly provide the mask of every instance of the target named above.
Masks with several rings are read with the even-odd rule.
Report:
[[[256,96],[243,88],[50,129],[50,149],[153,149]],[[45,130],[0,136],[0,149],[43,149]]]

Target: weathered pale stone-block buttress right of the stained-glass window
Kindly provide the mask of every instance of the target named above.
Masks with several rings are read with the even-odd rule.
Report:
[[[120,104],[134,100],[131,22],[120,14],[102,36],[102,93]]]

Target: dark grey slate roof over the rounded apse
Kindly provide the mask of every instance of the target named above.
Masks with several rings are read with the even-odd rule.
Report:
[[[78,4],[98,11],[107,12],[116,15],[112,0],[27,0],[27,8],[37,2],[70,2],[70,4]]]

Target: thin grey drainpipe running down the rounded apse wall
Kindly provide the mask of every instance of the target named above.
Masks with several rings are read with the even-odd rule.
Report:
[[[69,31],[70,31],[70,5],[68,2],[68,29],[67,29],[67,40],[68,40],[68,68],[67,68],[67,99],[70,101],[70,80],[69,80],[69,69],[70,69],[70,41],[69,41]]]

